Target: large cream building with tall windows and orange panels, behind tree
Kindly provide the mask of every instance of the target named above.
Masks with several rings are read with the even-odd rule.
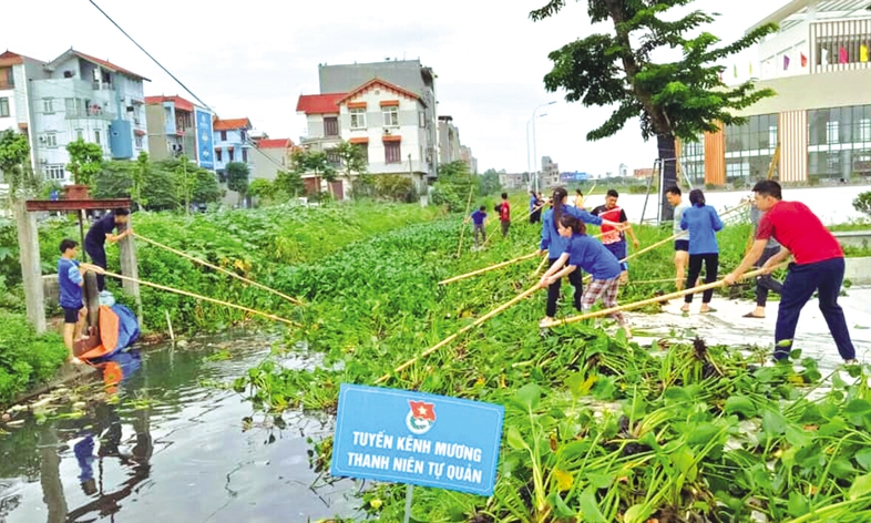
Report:
[[[836,183],[871,176],[871,11],[868,0],[792,0],[748,31],[777,22],[758,45],[758,89],[777,95],[737,113],[745,125],[721,126],[678,147],[694,184]]]

